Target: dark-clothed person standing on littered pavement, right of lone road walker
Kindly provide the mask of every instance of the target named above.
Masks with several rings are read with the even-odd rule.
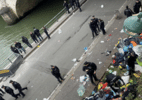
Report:
[[[96,84],[93,82],[93,78],[95,79],[95,81],[99,81],[99,79],[96,77],[96,70],[97,66],[95,63],[87,61],[84,63],[83,71],[85,71],[89,75],[91,83],[95,86]]]

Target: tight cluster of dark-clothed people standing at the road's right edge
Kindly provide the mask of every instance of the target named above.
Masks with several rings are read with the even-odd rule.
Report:
[[[94,39],[94,33],[95,35],[97,36],[98,33],[102,30],[102,33],[103,35],[106,34],[106,31],[105,31],[105,24],[104,24],[104,21],[102,19],[98,19],[98,18],[95,18],[95,16],[92,16],[92,19],[89,23],[89,26],[90,26],[90,29],[92,31],[92,38]]]

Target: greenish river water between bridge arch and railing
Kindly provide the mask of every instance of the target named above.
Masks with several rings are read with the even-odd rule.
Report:
[[[30,38],[29,33],[33,31],[33,27],[40,29],[61,9],[63,0],[45,0],[15,25],[7,26],[0,17],[0,64],[12,54],[10,46],[15,41],[21,42],[21,36]]]

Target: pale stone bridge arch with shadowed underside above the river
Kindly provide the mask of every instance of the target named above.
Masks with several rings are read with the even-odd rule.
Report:
[[[0,0],[0,9],[9,8],[9,12],[0,11],[7,24],[14,24],[26,12],[33,9],[43,0]]]

